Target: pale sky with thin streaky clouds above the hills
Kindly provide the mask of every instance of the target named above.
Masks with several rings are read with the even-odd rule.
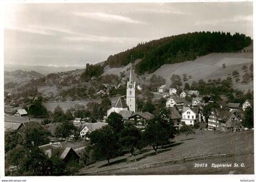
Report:
[[[252,37],[252,2],[9,4],[4,63],[85,66],[138,43],[180,33]]]

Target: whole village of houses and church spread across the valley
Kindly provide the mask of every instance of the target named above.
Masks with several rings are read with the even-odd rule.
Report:
[[[87,155],[85,152],[90,146],[90,133],[108,125],[112,117],[117,117],[113,116],[113,113],[118,114],[124,124],[132,124],[142,133],[148,122],[155,118],[155,115],[149,111],[138,111],[137,92],[141,91],[142,86],[138,86],[136,83],[132,65],[130,66],[129,79],[126,80],[126,96],[117,97],[115,102],[111,102],[111,107],[106,110],[105,115],[97,116],[96,119],[93,119],[90,114],[88,114],[88,117],[74,117],[75,115],[86,115],[81,114],[86,112],[82,106],[80,106],[82,108],[80,111],[79,109],[66,111],[66,115],[69,114],[69,119],[65,124],[63,120],[66,119],[63,119],[62,115],[64,113],[59,106],[55,108],[52,115],[52,117],[57,117],[59,122],[48,122],[47,117],[29,116],[25,108],[5,110],[5,136],[10,135],[10,138],[5,138],[5,145],[12,145],[13,141],[10,140],[13,139],[13,135],[18,137],[15,138],[16,144],[27,144],[28,140],[31,142],[29,145],[35,145],[34,137],[40,135],[37,131],[41,130],[41,135],[46,135],[46,133],[49,133],[49,135],[46,135],[47,139],[39,142],[43,145],[39,145],[38,149],[43,150],[48,158],[57,157],[66,164],[74,164],[74,161],[81,160],[84,160],[83,163],[90,164],[90,162],[85,161],[90,159],[83,157]],[[104,91],[102,90],[97,94],[109,94],[108,86],[110,84],[104,84]],[[249,109],[252,110],[252,99],[246,99],[241,103],[231,103],[223,101],[225,100],[225,96],[223,96],[224,99],[218,102],[213,99],[213,96],[202,95],[197,90],[178,91],[178,88],[168,88],[166,85],[161,85],[156,92],[151,93],[165,99],[162,106],[168,110],[167,117],[168,121],[172,123],[172,127],[179,131],[174,132],[177,133],[176,135],[184,134],[187,139],[187,135],[193,134],[195,131],[233,133],[244,132],[253,128],[252,125],[244,124],[243,121],[244,113],[248,112]],[[37,103],[40,99],[34,97],[32,100]],[[205,112],[205,108],[208,108],[207,112]],[[80,112],[80,115],[75,114],[77,111]],[[54,116],[54,114],[57,114],[57,116]],[[113,121],[119,122],[115,119]],[[35,131],[34,134],[33,131]],[[29,132],[32,132],[32,134],[29,134]],[[31,135],[31,138],[27,139],[28,135]],[[44,143],[46,141],[48,143]],[[10,142],[10,144],[7,142]],[[7,166],[9,167],[6,170],[11,175],[15,175],[15,172],[18,171],[18,166],[10,164]]]

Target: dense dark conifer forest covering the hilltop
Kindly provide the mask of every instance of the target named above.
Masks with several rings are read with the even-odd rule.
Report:
[[[132,49],[110,55],[107,65],[126,66],[130,61],[142,59],[135,68],[137,74],[154,72],[164,64],[194,60],[212,52],[237,52],[251,44],[244,34],[229,32],[193,32],[140,43]]]

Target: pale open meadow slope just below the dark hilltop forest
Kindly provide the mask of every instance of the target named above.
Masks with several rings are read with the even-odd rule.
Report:
[[[222,68],[222,64],[225,63],[226,68]],[[233,70],[240,72],[240,80],[243,80],[243,71],[241,68],[246,65],[248,68],[253,63],[253,53],[212,53],[199,58],[194,61],[185,61],[182,63],[163,65],[157,71],[152,74],[160,75],[166,79],[166,84],[171,85],[171,75],[178,74],[182,77],[183,74],[191,75],[192,79],[188,80],[188,83],[198,81],[200,79],[207,82],[208,79],[226,79],[227,76],[232,74]],[[105,74],[119,74],[120,72],[129,69],[130,65],[124,66],[123,68],[104,68]],[[129,71],[126,72],[127,76]],[[152,74],[145,74],[146,79],[149,79]],[[183,78],[183,77],[182,77]],[[143,83],[140,77],[136,78],[138,83]],[[239,88],[246,92],[248,89],[253,88],[253,83],[244,85],[241,83],[233,82],[233,88]]]

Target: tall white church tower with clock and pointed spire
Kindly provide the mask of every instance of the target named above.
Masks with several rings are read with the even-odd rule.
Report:
[[[130,79],[127,82],[126,88],[126,104],[128,105],[130,111],[137,112],[136,82],[133,79],[132,63],[130,63]]]

